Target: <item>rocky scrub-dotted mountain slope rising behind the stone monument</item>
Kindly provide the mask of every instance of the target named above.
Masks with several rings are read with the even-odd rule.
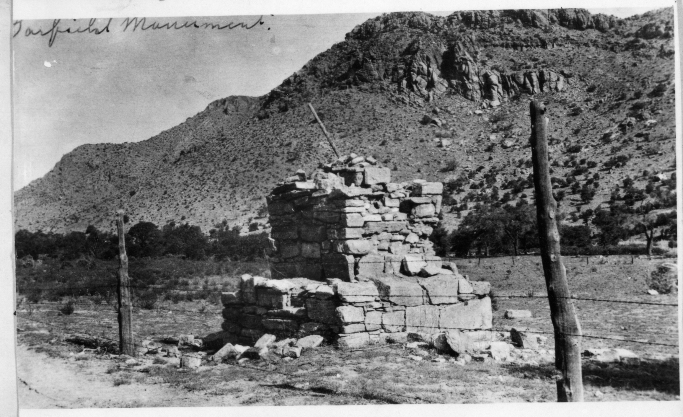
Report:
[[[450,183],[446,200],[471,208],[491,193],[531,196],[529,98],[540,98],[561,209],[594,209],[627,176],[643,187],[643,170],[675,170],[673,77],[671,9],[385,14],[266,96],[217,100],[143,142],[79,146],[16,192],[15,225],[113,230],[121,208],[159,226],[265,224],[279,180],[333,158],[309,101],[341,152],[374,155],[395,180]]]

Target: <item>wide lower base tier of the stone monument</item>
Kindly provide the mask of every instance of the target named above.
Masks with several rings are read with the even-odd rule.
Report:
[[[380,273],[367,282],[245,274],[239,291],[223,293],[221,327],[227,339],[247,343],[266,333],[278,338],[318,334],[348,347],[402,341],[408,333],[434,339],[456,332],[464,340],[483,335],[490,341],[488,282],[469,282],[457,271],[444,271],[450,273],[410,278]]]

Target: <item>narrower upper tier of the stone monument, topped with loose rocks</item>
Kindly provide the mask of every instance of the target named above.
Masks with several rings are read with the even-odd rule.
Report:
[[[350,154],[279,183],[266,198],[273,278],[367,281],[378,273],[417,275],[431,265],[442,183],[392,183],[391,170]]]

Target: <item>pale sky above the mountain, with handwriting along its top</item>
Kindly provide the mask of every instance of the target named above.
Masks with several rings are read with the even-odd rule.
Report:
[[[619,17],[650,8],[589,9]],[[450,14],[438,12],[437,14]],[[255,26],[228,30],[47,31],[52,21],[21,21],[13,39],[14,189],[43,176],[81,144],[138,142],[183,122],[208,103],[232,95],[260,96],[355,25],[378,13],[197,18],[199,23]],[[194,18],[150,18],[180,24]],[[87,27],[62,20],[60,28]],[[100,19],[92,28],[102,28]]]

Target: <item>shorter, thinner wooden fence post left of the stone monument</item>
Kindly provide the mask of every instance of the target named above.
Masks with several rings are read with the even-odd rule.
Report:
[[[135,356],[133,344],[133,304],[130,303],[130,280],[128,279],[128,255],[124,233],[124,212],[117,212],[116,230],[119,235],[119,270],[117,293],[119,297],[119,348],[121,353]]]

